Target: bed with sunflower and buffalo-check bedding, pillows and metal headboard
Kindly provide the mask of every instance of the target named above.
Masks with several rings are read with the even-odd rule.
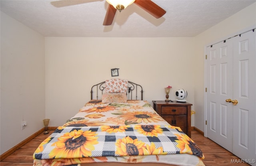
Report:
[[[93,85],[91,100],[35,150],[34,166],[204,166],[204,154],[125,79]]]

